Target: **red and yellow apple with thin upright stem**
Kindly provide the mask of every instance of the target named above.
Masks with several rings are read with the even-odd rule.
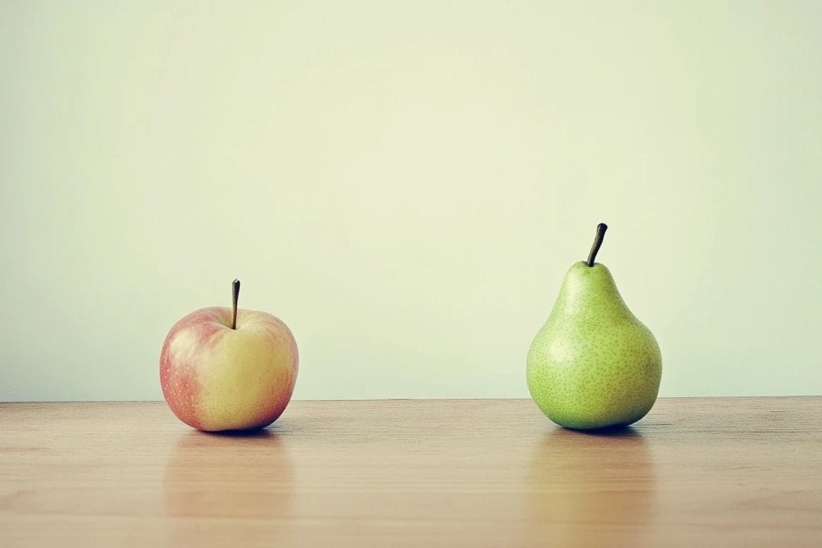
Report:
[[[201,431],[253,430],[276,421],[297,381],[297,343],[266,312],[233,307],[193,311],[173,325],[159,358],[165,401]]]

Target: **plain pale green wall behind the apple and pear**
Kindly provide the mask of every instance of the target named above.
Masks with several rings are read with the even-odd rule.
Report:
[[[820,394],[822,2],[0,0],[0,400],[158,399],[270,311],[295,398],[526,397],[599,221],[662,394]]]

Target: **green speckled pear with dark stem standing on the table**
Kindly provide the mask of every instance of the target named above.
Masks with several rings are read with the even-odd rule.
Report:
[[[606,230],[598,225],[588,260],[568,270],[528,352],[533,401],[556,424],[579,430],[639,421],[662,378],[656,339],[628,310],[611,272],[594,263]]]

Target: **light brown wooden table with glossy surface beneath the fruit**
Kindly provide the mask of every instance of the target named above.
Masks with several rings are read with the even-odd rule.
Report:
[[[0,404],[0,546],[822,546],[822,398],[661,399],[581,434],[530,400]]]

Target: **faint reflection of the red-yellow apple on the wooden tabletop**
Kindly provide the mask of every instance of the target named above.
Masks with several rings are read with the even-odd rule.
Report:
[[[287,442],[272,429],[242,434],[182,435],[163,480],[165,513],[175,544],[202,537],[209,523],[215,546],[242,538],[272,540],[284,532],[292,505],[293,471]]]

